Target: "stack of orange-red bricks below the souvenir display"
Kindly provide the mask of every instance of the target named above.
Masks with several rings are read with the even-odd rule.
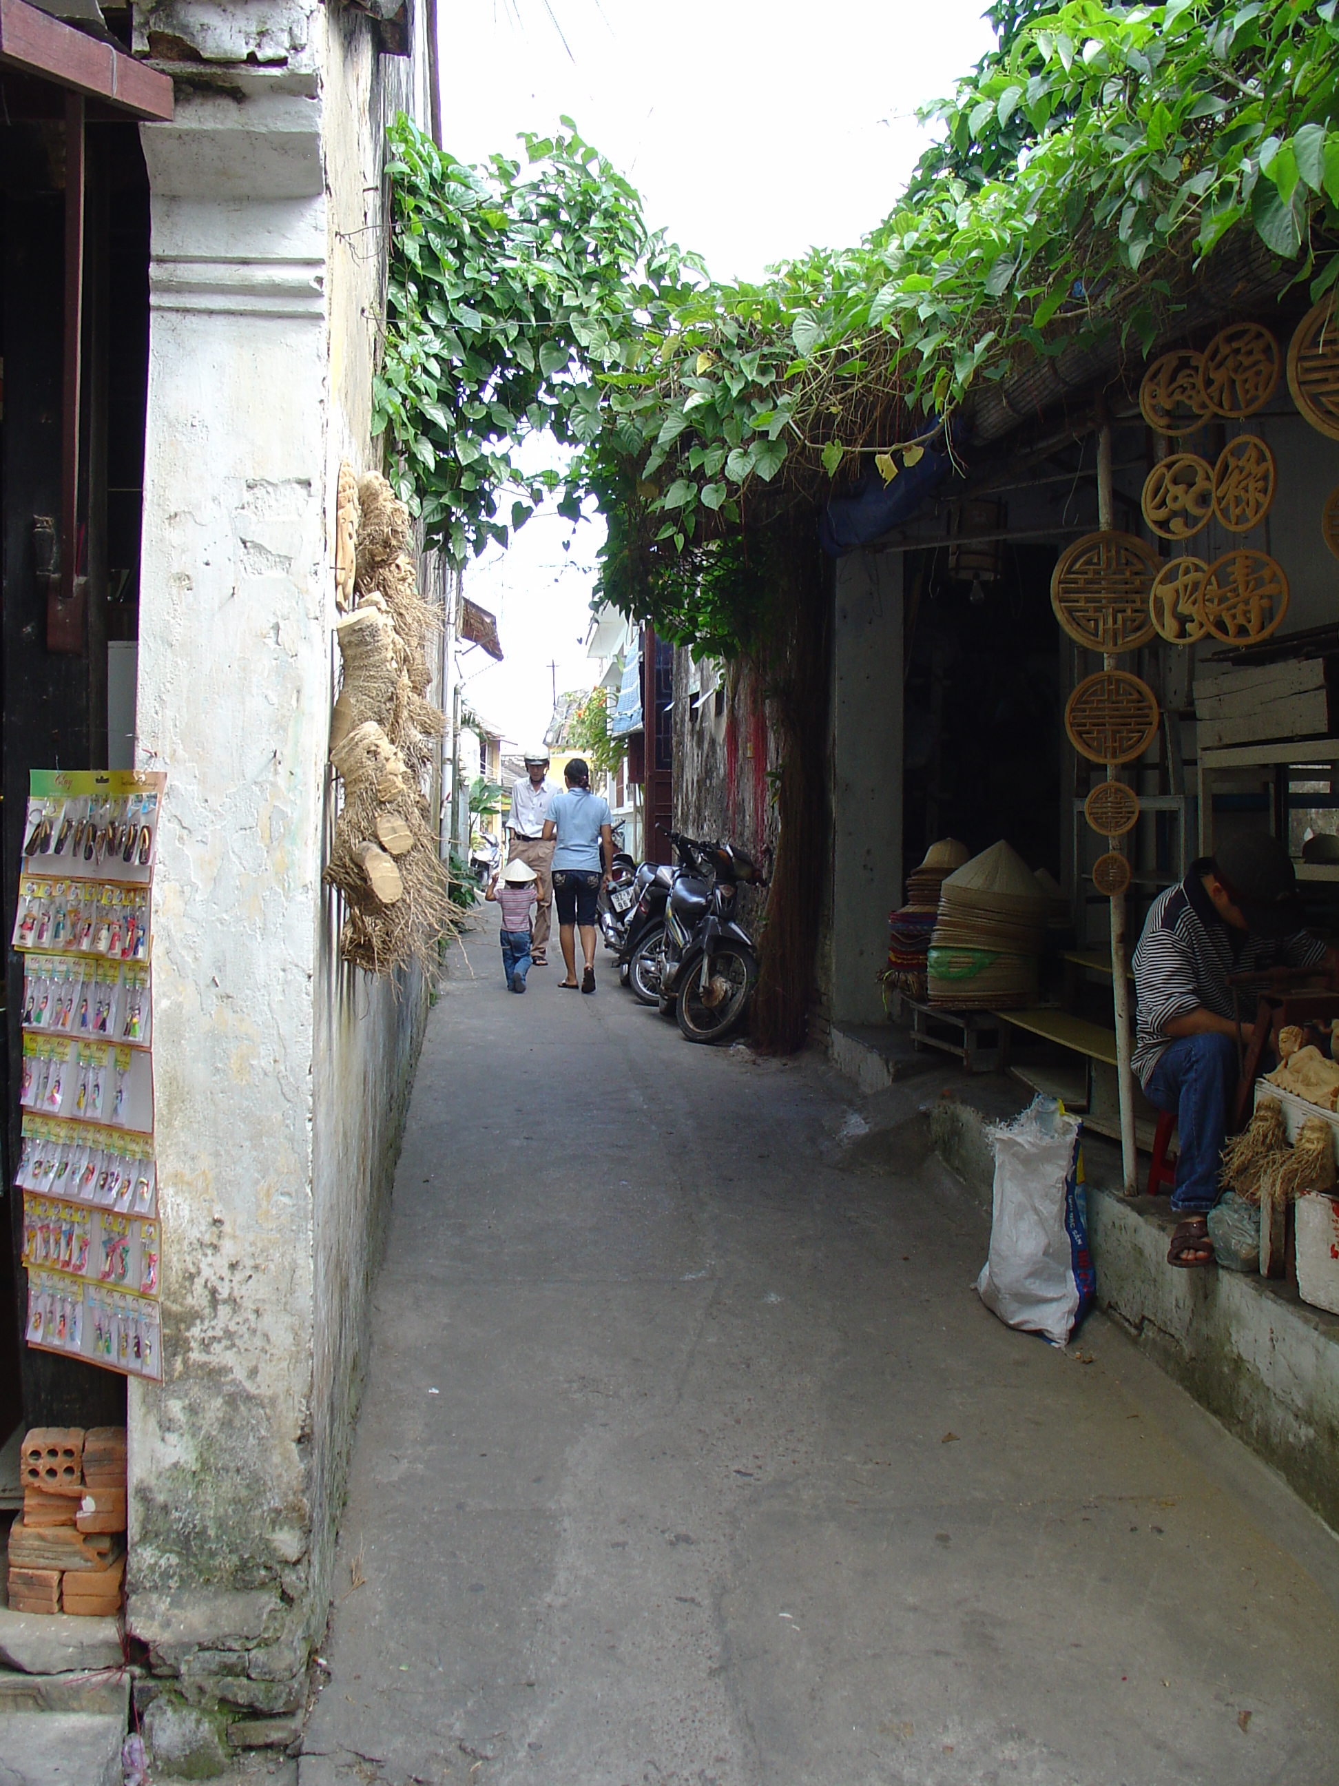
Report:
[[[20,1472],[11,1611],[112,1618],[125,1577],[125,1427],[34,1427]]]

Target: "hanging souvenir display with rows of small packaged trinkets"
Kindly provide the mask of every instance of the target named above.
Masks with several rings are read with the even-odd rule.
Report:
[[[30,1347],[162,1377],[152,891],[166,777],[34,770],[23,954]]]

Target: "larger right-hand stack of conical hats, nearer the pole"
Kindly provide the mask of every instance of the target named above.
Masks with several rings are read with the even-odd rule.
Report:
[[[1003,841],[948,875],[927,957],[930,1004],[955,1011],[1034,1004],[1046,904],[1028,864]]]

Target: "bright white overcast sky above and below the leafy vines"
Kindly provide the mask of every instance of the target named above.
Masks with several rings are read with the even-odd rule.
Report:
[[[652,227],[716,279],[759,279],[809,246],[859,241],[891,211],[927,141],[916,107],[991,45],[984,4],[550,0],[550,16],[545,0],[441,0],[445,146],[462,161],[512,154],[520,130],[555,130],[566,113],[639,189]],[[550,663],[559,693],[593,682],[598,523],[564,552],[568,538],[541,511],[466,572],[505,661],[473,648],[461,672],[520,745],[548,725]]]

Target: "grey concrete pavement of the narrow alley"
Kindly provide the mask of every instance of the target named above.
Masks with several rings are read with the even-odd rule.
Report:
[[[973,1281],[928,1073],[694,1048],[489,918],[430,1023],[302,1786],[1319,1781],[1334,1536]],[[607,957],[605,957],[607,959]]]

